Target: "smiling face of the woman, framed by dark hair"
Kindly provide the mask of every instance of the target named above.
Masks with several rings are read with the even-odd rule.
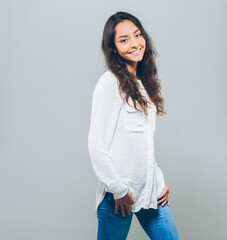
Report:
[[[139,28],[130,20],[124,20],[115,27],[115,46],[121,57],[130,65],[136,65],[143,59],[146,41]]]

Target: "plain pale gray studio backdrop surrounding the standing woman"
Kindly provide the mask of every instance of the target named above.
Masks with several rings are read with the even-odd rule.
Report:
[[[0,2],[0,239],[96,238],[87,150],[103,26],[137,16],[159,52],[155,156],[181,239],[226,239],[227,1]],[[134,218],[129,240],[148,239]]]

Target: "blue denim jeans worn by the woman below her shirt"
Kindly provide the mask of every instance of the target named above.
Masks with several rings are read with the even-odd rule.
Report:
[[[131,225],[133,213],[123,217],[121,209],[115,214],[113,194],[107,192],[98,207],[98,240],[125,240]],[[179,240],[170,209],[158,205],[158,209],[141,209],[134,213],[144,231],[152,240]]]

